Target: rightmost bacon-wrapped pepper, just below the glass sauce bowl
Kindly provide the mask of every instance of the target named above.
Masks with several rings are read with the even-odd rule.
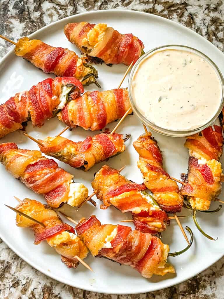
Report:
[[[181,193],[189,200],[191,207],[208,210],[211,200],[221,192],[222,165],[218,161],[223,152],[222,127],[210,126],[202,132],[187,138],[189,149],[188,173],[182,175],[185,186]]]

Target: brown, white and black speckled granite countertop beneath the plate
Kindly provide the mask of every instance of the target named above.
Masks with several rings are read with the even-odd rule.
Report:
[[[180,22],[224,51],[222,0],[1,0],[0,34],[17,41],[54,21],[90,10],[129,9]],[[0,40],[0,59],[13,46]],[[196,277],[165,290],[141,295],[104,295],[66,286],[20,259],[0,239],[0,299],[224,298],[224,257]]]

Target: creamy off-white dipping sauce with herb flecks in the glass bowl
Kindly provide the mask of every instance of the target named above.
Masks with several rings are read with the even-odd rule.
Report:
[[[219,109],[220,79],[210,63],[184,50],[167,49],[143,59],[131,82],[136,109],[164,129],[203,126]]]

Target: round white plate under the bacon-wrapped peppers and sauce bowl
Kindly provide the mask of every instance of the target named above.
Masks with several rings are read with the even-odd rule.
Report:
[[[101,10],[81,13],[48,25],[31,34],[30,37],[42,39],[53,46],[67,47],[79,54],[76,47],[67,41],[63,28],[69,22],[81,21],[108,23],[121,33],[131,32],[144,42],[146,51],[166,44],[182,44],[194,47],[211,57],[224,73],[223,54],[210,42],[182,25],[147,13],[128,10]],[[102,90],[104,90],[116,88],[127,67],[125,65],[108,67],[104,64],[97,65],[96,68],[99,71],[99,81]],[[5,102],[16,92],[30,89],[33,84],[49,77],[49,75],[44,74],[26,60],[16,57],[13,51],[7,54],[1,61],[0,74],[1,103]],[[127,86],[127,78],[123,86]],[[93,89],[95,89],[93,85],[85,88],[85,90]],[[110,128],[114,126],[115,123],[109,125]],[[65,125],[57,119],[51,119],[40,129],[33,129],[29,123],[27,132],[36,138],[45,138],[48,135],[55,136],[63,127]],[[131,180],[142,182],[141,173],[136,165],[138,155],[132,147],[132,142],[142,134],[143,127],[135,116],[129,116],[119,127],[118,132],[123,134],[132,133],[132,139],[127,142],[126,151],[115,158],[111,158],[108,164],[115,168],[120,168],[126,164],[127,166],[122,171],[122,174]],[[87,132],[79,128],[74,129],[72,132],[65,132],[64,136],[78,141],[84,140],[90,134],[94,135],[94,132]],[[188,151],[183,147],[185,139],[168,138],[156,133],[154,136],[163,152],[165,169],[171,176],[179,178],[180,173],[186,172],[188,168]],[[6,141],[14,141],[19,147],[24,149],[38,148],[35,143],[27,139],[19,131],[1,140],[1,142]],[[76,181],[83,182],[88,186],[90,193],[92,192],[90,182],[93,179],[93,174],[103,164],[96,165],[88,173],[84,173],[81,170],[75,170],[67,164],[59,162],[61,167],[74,174]],[[213,237],[219,236],[218,241],[210,241],[203,237],[195,228],[191,218],[182,220],[184,226],[189,225],[192,228],[195,240],[192,248],[185,254],[169,258],[169,262],[175,266],[176,275],[154,276],[152,279],[147,280],[128,266],[119,266],[119,264],[109,260],[96,259],[91,257],[90,254],[85,261],[94,269],[94,272],[88,271],[82,265],[79,265],[77,269],[67,269],[61,263],[60,256],[46,242],[42,242],[38,246],[33,245],[33,233],[29,229],[18,228],[15,225],[15,214],[4,206],[4,204],[11,206],[17,204],[13,195],[19,198],[30,197],[44,202],[42,197],[27,189],[19,180],[13,179],[3,166],[0,166],[0,176],[0,190],[2,194],[0,207],[1,238],[27,263],[62,283],[100,293],[132,294],[150,292],[187,280],[211,266],[223,255],[224,219],[222,217],[223,211],[221,210],[214,215],[198,213],[199,222],[204,230]],[[91,214],[95,214],[102,223],[112,224],[117,224],[119,220],[130,217],[128,213],[122,214],[113,207],[108,208],[108,210],[100,210],[100,202],[97,200],[96,202],[97,208],[94,208],[91,204],[86,204],[78,212],[75,209],[66,208],[66,213],[69,213],[76,220],[81,216],[88,217]],[[212,208],[217,206],[217,202],[212,204]],[[186,246],[178,226],[173,221],[171,226],[162,234],[162,239],[163,242],[170,244],[171,251],[180,250]]]

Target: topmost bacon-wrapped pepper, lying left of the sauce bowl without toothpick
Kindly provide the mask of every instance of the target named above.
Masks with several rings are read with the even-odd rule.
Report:
[[[106,64],[136,62],[144,53],[144,45],[131,33],[121,34],[107,24],[70,23],[64,28],[67,39],[82,53],[97,57]]]

